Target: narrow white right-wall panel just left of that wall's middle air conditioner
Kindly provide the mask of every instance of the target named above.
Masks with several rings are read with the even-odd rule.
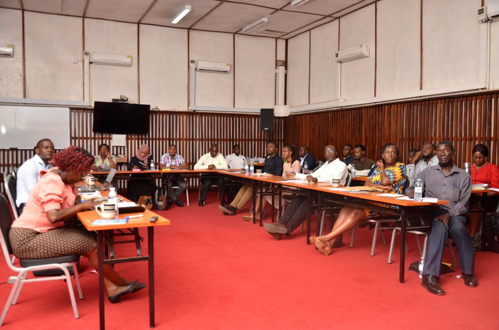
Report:
[[[310,32],[310,103],[338,98],[338,22],[336,19]]]

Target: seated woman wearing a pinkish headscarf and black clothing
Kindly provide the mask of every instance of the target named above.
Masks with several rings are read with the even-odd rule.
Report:
[[[149,169],[148,164],[151,164],[152,160],[153,157],[149,153],[149,147],[142,145],[137,150],[137,154],[128,163],[128,170],[134,168]],[[127,198],[134,202],[139,201],[140,196],[154,196],[154,191],[155,184],[147,174],[133,174],[130,180],[128,180]]]

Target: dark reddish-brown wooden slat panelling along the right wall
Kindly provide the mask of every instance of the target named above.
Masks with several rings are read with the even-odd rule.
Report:
[[[449,140],[460,167],[472,161],[473,147],[483,143],[489,147],[488,160],[498,164],[498,103],[499,93],[488,92],[295,115],[285,120],[284,142],[308,145],[319,160],[327,144],[334,145],[341,155],[344,144],[361,143],[367,147],[368,158],[376,160],[380,147],[390,141],[406,162],[409,149]]]

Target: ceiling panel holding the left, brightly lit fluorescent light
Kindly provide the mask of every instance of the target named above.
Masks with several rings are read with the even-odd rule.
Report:
[[[158,0],[141,23],[189,28],[220,3],[217,0]],[[192,10],[180,22],[172,24],[172,18],[186,4],[190,4]]]

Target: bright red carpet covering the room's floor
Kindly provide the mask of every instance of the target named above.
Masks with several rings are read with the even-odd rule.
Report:
[[[415,272],[406,271],[406,283],[398,282],[399,241],[390,265],[389,233],[388,245],[379,240],[374,257],[367,228],[357,230],[353,248],[347,235],[344,246],[326,257],[306,245],[298,230],[275,241],[262,227],[243,221],[246,212],[222,215],[215,195],[205,207],[193,202],[159,213],[172,225],[155,231],[157,329],[499,329],[499,254],[477,253],[477,288],[456,278],[458,268],[442,276],[447,295],[435,296],[421,287]],[[412,235],[408,242],[407,264],[419,259]],[[125,252],[133,253],[133,246],[120,246],[118,257]],[[448,250],[445,261],[450,262]],[[147,283],[145,262],[116,269]],[[4,327],[98,329],[97,275],[91,270],[83,259],[79,320],[73,318],[67,287],[51,281],[26,284]],[[0,279],[9,275],[1,267]],[[0,285],[1,308],[10,288]],[[147,290],[126,296],[123,304],[106,301],[106,327],[147,329]]]

